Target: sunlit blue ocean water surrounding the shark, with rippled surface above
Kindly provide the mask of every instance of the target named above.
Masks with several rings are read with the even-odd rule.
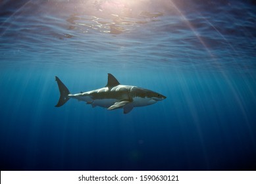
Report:
[[[1,170],[256,170],[253,1],[1,1]],[[150,106],[70,99],[107,84]]]

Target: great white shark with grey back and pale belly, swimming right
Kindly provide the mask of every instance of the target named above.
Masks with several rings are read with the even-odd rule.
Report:
[[[166,99],[164,95],[149,89],[133,85],[121,85],[112,74],[108,74],[108,81],[105,87],[77,94],[71,94],[57,76],[55,79],[61,93],[59,102],[55,105],[57,107],[63,106],[69,99],[77,99],[91,104],[93,108],[95,106],[101,106],[108,110],[123,108],[124,114],[127,114],[134,107],[147,106]]]

